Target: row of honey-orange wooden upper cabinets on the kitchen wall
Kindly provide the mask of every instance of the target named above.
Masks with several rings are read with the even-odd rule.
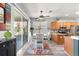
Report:
[[[67,27],[70,28],[70,26],[77,26],[78,22],[52,22],[51,23],[51,29],[59,29],[60,27]]]

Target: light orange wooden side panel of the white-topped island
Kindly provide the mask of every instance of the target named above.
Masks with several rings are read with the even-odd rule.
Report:
[[[73,53],[73,40],[71,39],[70,36],[65,36],[64,49],[69,55],[72,55],[72,53]]]

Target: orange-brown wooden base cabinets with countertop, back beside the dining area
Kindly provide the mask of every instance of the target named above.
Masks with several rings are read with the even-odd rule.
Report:
[[[61,34],[57,32],[51,32],[51,40],[54,41],[58,45],[64,44],[64,36],[66,34]]]

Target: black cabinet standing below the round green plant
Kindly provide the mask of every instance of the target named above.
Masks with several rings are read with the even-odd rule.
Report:
[[[0,43],[0,56],[16,56],[16,39]]]

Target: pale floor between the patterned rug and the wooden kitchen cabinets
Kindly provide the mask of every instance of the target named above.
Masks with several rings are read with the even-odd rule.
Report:
[[[50,42],[53,56],[67,56],[64,45],[57,45],[55,42]]]

